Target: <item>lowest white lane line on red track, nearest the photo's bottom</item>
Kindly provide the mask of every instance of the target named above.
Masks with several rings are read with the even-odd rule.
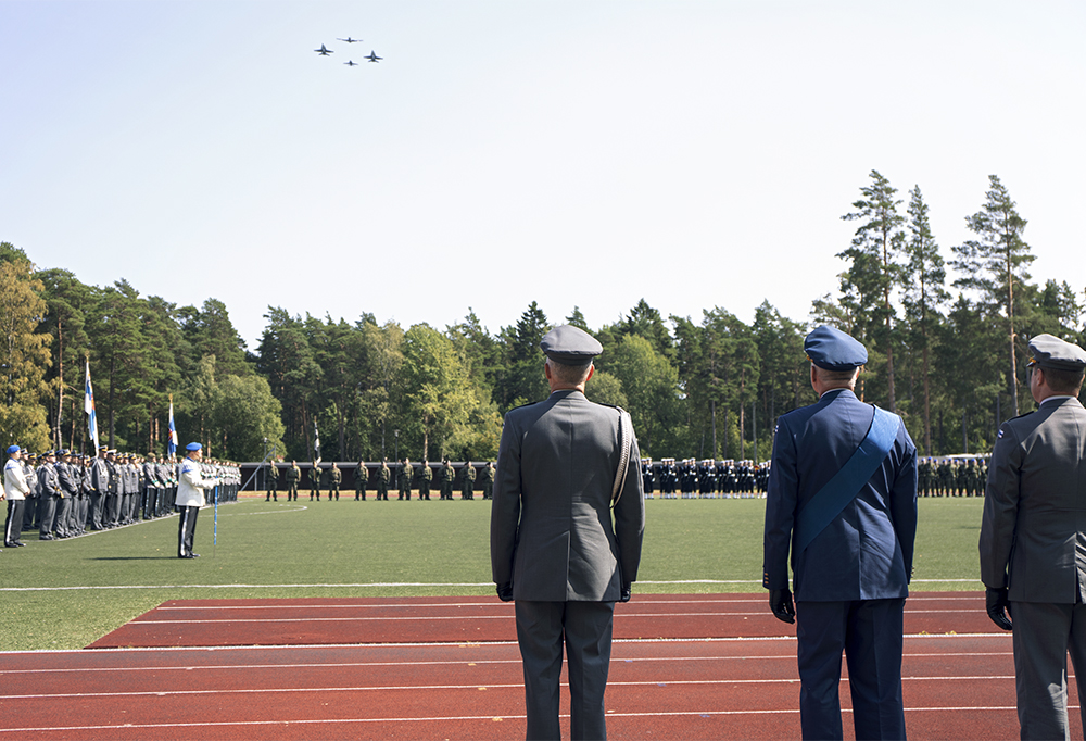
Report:
[[[1015,711],[1013,706],[977,706],[977,707],[906,707],[906,713],[960,713],[960,712],[993,712],[993,711]],[[1068,705],[1068,709],[1078,709],[1077,705]],[[851,713],[851,708],[843,707],[842,713]],[[799,708],[774,708],[769,711],[667,711],[651,713],[608,713],[608,718],[652,718],[652,717],[705,717],[705,716],[728,716],[741,715],[797,715]],[[521,720],[523,715],[446,715],[421,718],[338,718],[313,719],[304,718],[299,720],[223,720],[218,723],[155,723],[155,724],[121,724],[110,726],[55,726],[43,728],[0,728],[0,733],[27,733],[33,731],[97,731],[97,730],[121,730],[121,729],[154,729],[154,728],[224,728],[238,726],[286,726],[286,725],[332,725],[332,724],[374,724],[374,723],[424,723],[439,721],[449,723],[457,720],[485,720],[493,723],[495,719]],[[569,714],[560,717],[568,718]]]

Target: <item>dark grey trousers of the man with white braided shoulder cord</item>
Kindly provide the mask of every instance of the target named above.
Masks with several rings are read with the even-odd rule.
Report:
[[[525,666],[528,739],[558,739],[563,644],[569,673],[570,737],[606,739],[604,691],[610,667],[614,602],[516,601]]]

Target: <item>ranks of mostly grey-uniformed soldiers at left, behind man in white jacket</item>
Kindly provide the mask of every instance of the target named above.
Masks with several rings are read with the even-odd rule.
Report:
[[[22,530],[38,530],[39,540],[74,538],[87,530],[109,530],[173,513],[177,463],[101,448],[98,455],[50,450],[22,457],[30,489],[23,507]],[[207,478],[218,477],[219,501],[236,501],[241,468],[232,463],[201,463]]]

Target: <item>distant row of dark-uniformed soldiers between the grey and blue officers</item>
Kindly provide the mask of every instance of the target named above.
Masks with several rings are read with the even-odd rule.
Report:
[[[725,459],[641,460],[645,495],[653,498],[657,485],[664,499],[723,499],[763,497],[769,485],[769,462]]]

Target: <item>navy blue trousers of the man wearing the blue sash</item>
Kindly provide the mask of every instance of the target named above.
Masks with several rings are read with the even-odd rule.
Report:
[[[905,739],[905,599],[796,603],[799,719],[805,739],[841,739],[841,654],[857,741]]]

